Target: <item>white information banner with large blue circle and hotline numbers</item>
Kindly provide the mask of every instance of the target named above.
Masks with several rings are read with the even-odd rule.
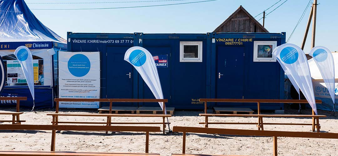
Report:
[[[100,52],[59,52],[59,98],[100,98]],[[99,102],[60,102],[63,108],[99,108]]]

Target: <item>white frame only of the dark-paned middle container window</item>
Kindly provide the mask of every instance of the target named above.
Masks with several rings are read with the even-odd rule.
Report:
[[[182,41],[179,42],[179,62],[202,62],[202,41]],[[184,45],[197,45],[198,46],[198,58],[184,58]]]

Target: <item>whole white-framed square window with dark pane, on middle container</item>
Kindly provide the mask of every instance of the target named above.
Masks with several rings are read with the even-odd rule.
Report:
[[[180,62],[202,62],[202,42],[180,42]]]

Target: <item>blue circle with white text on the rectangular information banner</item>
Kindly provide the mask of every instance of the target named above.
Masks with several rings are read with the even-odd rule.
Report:
[[[82,77],[88,74],[90,70],[90,61],[88,57],[83,54],[73,55],[68,60],[68,70],[76,77]]]

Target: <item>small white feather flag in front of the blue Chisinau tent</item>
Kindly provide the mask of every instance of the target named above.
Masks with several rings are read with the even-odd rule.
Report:
[[[33,70],[33,57],[32,53],[26,46],[19,46],[15,52],[14,55],[17,57],[23,74],[25,75],[28,88],[30,90],[30,93],[32,94],[33,101],[35,100],[34,96],[34,70]],[[33,109],[34,109],[34,102],[33,102]]]

